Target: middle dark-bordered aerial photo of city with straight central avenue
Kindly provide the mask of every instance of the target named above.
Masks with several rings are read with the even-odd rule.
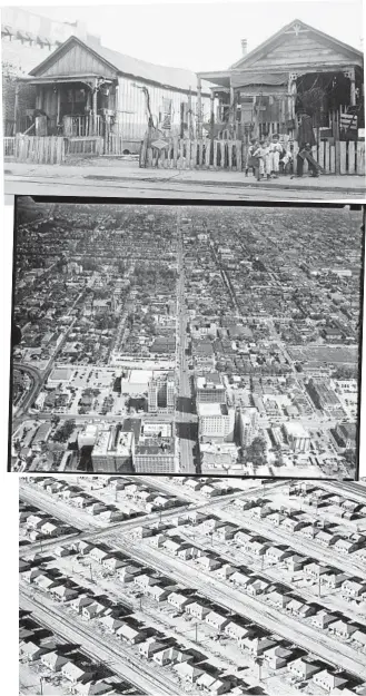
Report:
[[[354,479],[360,226],[19,198],[11,470]]]

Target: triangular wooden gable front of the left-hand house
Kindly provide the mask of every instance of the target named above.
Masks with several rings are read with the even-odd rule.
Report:
[[[46,67],[44,71],[37,72],[37,77],[56,77],[72,75],[98,75],[116,77],[116,71],[109,68],[82,46],[71,46],[68,51],[55,58],[55,62]]]

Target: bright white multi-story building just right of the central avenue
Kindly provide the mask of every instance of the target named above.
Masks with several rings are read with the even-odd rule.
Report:
[[[225,403],[198,403],[198,432],[202,441],[234,441],[235,409]]]

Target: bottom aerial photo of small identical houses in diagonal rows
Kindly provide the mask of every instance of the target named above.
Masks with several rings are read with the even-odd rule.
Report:
[[[362,696],[366,482],[19,478],[19,693]]]

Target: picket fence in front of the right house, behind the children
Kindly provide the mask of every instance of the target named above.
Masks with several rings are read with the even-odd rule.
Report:
[[[294,174],[298,144],[291,144]],[[246,168],[248,146],[241,140],[189,140],[171,138],[165,148],[154,147],[144,140],[140,167],[161,169],[227,169],[241,171]],[[325,174],[365,175],[365,141],[320,141],[313,148],[313,156]],[[304,171],[307,163],[304,163]]]

